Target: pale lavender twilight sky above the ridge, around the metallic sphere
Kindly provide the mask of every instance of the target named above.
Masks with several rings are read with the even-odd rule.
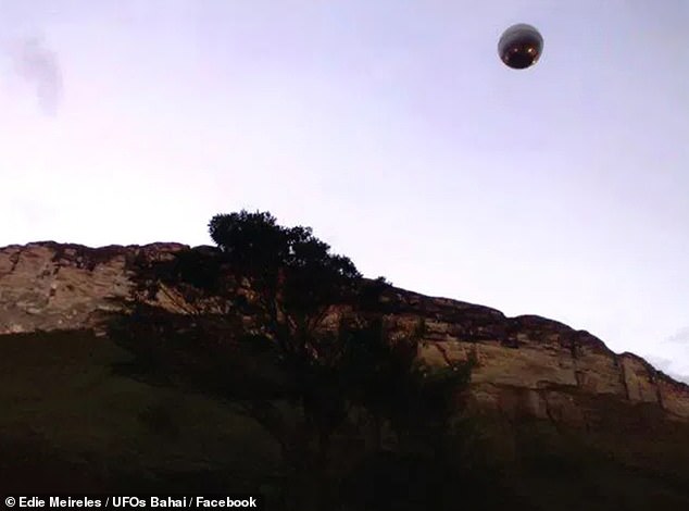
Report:
[[[521,22],[544,53],[514,71]],[[689,382],[687,27],[686,0],[0,0],[0,246],[270,211]]]

